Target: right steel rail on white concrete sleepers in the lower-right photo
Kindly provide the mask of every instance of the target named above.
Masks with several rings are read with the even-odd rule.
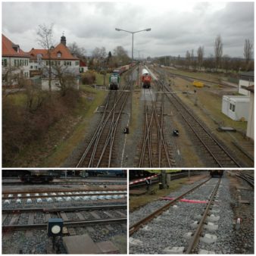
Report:
[[[192,239],[190,240],[189,242],[189,246],[188,248],[186,249],[186,254],[191,254],[191,253],[194,253],[194,249],[196,247],[196,245],[198,244],[198,240],[200,238],[200,235],[201,235],[201,231],[203,229],[203,226],[204,226],[204,223],[205,223],[205,220],[206,220],[206,217],[208,217],[208,212],[211,208],[211,204],[213,203],[214,201],[214,197],[217,193],[217,190],[219,189],[219,186],[220,186],[220,180],[221,178],[218,180],[216,186],[214,186],[214,190],[213,192],[211,193],[211,198],[210,200],[208,201],[208,204],[207,204],[207,207],[205,208],[204,210],[204,214],[203,216],[201,217],[201,220],[198,224],[198,227],[197,229],[195,230],[195,233],[194,235],[192,236]]]

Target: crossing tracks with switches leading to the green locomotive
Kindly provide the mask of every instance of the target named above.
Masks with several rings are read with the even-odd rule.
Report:
[[[117,158],[115,138],[117,130],[123,131],[119,123],[127,98],[130,95],[130,92],[126,91],[129,86],[130,82],[122,91],[110,91],[108,93],[98,127],[76,167],[113,167],[113,159]]]

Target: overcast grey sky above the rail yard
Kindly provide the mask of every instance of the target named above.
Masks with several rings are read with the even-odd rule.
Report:
[[[64,31],[67,45],[76,42],[90,55],[95,47],[113,51],[122,45],[131,56],[132,34],[115,28],[149,32],[134,34],[134,55],[185,56],[204,46],[214,53],[218,34],[223,55],[243,57],[245,39],[254,40],[254,2],[3,2],[2,33],[23,51],[40,48],[39,24],[54,23],[54,42]]]

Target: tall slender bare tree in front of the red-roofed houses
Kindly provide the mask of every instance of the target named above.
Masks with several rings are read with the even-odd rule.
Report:
[[[47,27],[45,24],[39,25],[39,29],[37,30],[37,36],[38,39],[37,41],[39,42],[39,45],[42,46],[45,50],[47,50],[47,55],[48,55],[48,86],[49,86],[49,91],[52,91],[52,56],[51,56],[51,51],[52,51],[52,27],[53,23]]]

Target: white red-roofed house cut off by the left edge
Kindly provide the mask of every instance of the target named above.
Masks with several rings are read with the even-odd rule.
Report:
[[[30,56],[2,34],[2,83],[17,85],[20,77],[30,78]]]

